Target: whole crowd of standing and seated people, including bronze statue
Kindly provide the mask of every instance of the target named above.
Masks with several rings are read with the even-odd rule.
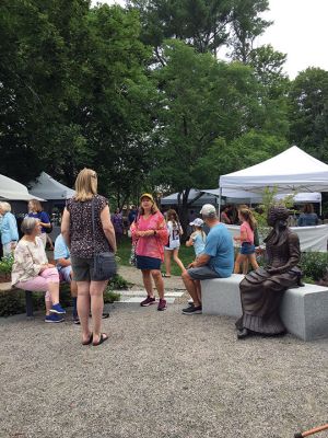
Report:
[[[110,215],[107,199],[97,194],[96,172],[83,169],[75,181],[75,195],[67,200],[62,214],[61,233],[55,242],[56,266],[49,263],[45,251],[51,223],[36,199],[28,203],[28,214],[21,224],[21,239],[10,204],[0,203],[1,243],[4,256],[14,255],[12,285],[45,292],[45,322],[63,321],[66,311],[60,304],[59,285],[61,281],[70,284],[73,322],[81,325],[82,345],[98,346],[108,339],[102,332],[102,319],[108,316],[104,313],[103,293],[110,278],[98,280],[95,277],[94,261],[98,253],[116,253],[117,243],[126,233],[131,237],[136,267],[141,272],[147,291],[141,307],[156,303],[159,311],[167,308],[164,278],[172,275],[172,262],[179,267],[191,298],[183,309],[185,315],[202,312],[201,280],[226,278],[242,269],[246,277],[241,284],[243,316],[237,328],[238,337],[244,338],[249,333],[278,334],[283,331],[278,315],[280,299],[282,292],[301,278],[298,238],[288,228],[288,209],[274,208],[268,218],[272,232],[266,240],[270,261],[266,269],[259,268],[256,260],[257,223],[253,211],[247,206],[237,210],[241,232],[234,238],[239,244],[235,258],[233,239],[226,227],[235,221],[234,214],[231,207],[224,207],[219,218],[215,207],[210,204],[203,205],[199,214],[190,212],[185,244],[194,247],[195,260],[185,266],[179,257],[184,229],[174,209],[163,215],[153,196],[144,193],[140,196],[139,207],[130,206],[125,212],[126,219],[118,209]],[[311,223],[316,224],[317,217],[305,206],[300,226]],[[283,254],[279,252],[282,247]],[[164,273],[161,272],[163,263]]]

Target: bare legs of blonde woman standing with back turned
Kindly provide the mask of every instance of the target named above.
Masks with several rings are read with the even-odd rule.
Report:
[[[93,324],[93,342],[99,342],[102,314],[104,309],[103,292],[107,286],[107,283],[108,281],[77,281],[78,313],[82,328],[82,342],[86,342],[91,335],[89,328],[90,301]]]

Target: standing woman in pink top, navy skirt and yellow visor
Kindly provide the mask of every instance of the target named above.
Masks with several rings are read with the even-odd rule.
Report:
[[[159,210],[151,194],[140,196],[140,208],[137,220],[131,224],[131,237],[136,243],[137,268],[142,273],[147,298],[141,307],[154,304],[152,278],[154,279],[160,301],[157,310],[166,309],[164,299],[164,281],[161,275],[161,263],[164,261],[164,244],[167,242],[168,232],[163,215]]]

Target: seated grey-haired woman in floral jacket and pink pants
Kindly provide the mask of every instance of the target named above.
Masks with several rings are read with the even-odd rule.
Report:
[[[66,311],[59,303],[59,275],[48,263],[40,234],[38,219],[26,217],[21,226],[23,238],[14,251],[12,286],[31,291],[45,291],[45,322],[62,322]]]

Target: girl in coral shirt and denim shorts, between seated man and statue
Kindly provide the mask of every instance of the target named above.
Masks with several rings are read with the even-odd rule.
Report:
[[[248,208],[239,209],[238,218],[242,222],[241,235],[235,237],[234,240],[239,241],[242,245],[235,262],[234,274],[239,274],[242,263],[244,266],[243,270],[248,268],[248,263],[244,263],[246,260],[249,260],[253,269],[258,268],[254,245],[254,230],[256,228],[256,220],[253,216],[253,212]],[[247,274],[247,272],[243,272],[243,274]]]

